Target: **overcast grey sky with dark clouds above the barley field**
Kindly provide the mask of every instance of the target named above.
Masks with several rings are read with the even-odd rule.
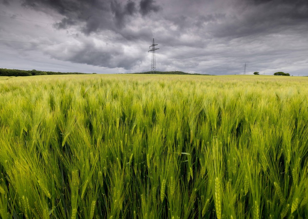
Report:
[[[149,71],[153,38],[157,71],[308,75],[307,0],[0,0],[2,68]]]

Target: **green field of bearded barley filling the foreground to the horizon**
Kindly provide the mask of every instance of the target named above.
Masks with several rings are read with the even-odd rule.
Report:
[[[0,77],[1,218],[304,218],[308,78]]]

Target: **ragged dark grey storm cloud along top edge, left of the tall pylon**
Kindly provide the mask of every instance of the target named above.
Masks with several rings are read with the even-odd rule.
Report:
[[[136,12],[136,3],[131,0],[21,0],[22,5],[35,10],[55,11],[63,16],[57,24],[64,26],[75,25],[85,22],[86,33],[92,30],[120,30]],[[153,0],[142,0],[140,2],[140,13],[146,15],[151,11],[157,12],[160,9]]]

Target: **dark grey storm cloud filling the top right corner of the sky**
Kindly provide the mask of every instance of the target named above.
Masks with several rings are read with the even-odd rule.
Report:
[[[214,24],[213,36],[249,37],[296,30],[301,25],[303,32],[308,30],[308,1],[243,0],[237,7],[237,14],[229,14],[223,23]]]

